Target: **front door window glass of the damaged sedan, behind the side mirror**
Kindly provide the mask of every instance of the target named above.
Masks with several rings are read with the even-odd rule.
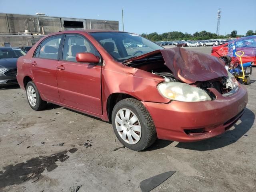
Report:
[[[66,35],[62,60],[76,62],[76,54],[81,52],[89,52],[100,57],[99,52],[94,48],[94,46],[92,46],[92,44],[82,36]]]

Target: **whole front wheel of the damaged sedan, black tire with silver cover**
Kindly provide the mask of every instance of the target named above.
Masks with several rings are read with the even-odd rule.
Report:
[[[112,126],[118,140],[134,151],[144,150],[156,140],[156,128],[148,110],[133,98],[121,100],[114,106]]]

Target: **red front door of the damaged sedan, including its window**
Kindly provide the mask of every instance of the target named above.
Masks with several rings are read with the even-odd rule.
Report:
[[[67,106],[100,115],[101,64],[77,62],[76,53],[79,52],[90,52],[101,58],[96,48],[84,36],[65,36],[62,57],[57,64],[60,100]]]

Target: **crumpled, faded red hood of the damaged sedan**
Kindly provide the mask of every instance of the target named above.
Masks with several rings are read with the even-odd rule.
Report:
[[[224,60],[220,58],[180,47],[163,49],[160,52],[172,74],[185,83],[228,76]]]

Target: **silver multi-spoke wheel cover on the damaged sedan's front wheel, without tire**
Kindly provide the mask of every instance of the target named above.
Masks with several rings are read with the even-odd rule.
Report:
[[[116,130],[118,134],[128,144],[139,142],[142,129],[138,117],[129,109],[123,108],[116,113]]]

